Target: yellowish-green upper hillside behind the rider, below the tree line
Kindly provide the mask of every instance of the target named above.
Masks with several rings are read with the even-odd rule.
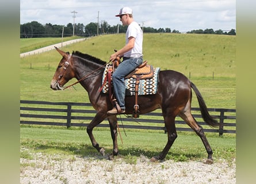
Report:
[[[81,51],[108,60],[123,47],[124,34],[93,37],[71,45],[66,51]],[[235,77],[235,36],[216,34],[144,34],[144,60],[162,70],[178,70],[193,76]]]

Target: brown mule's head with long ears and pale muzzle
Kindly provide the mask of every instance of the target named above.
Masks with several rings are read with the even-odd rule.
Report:
[[[72,56],[68,52],[61,51],[55,47],[56,50],[62,55],[62,60],[55,71],[54,77],[51,81],[51,89],[63,90],[63,86],[72,78],[74,72],[72,71]]]

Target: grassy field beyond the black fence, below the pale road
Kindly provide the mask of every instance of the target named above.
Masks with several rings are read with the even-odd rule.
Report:
[[[124,36],[93,37],[62,49],[81,51],[107,61],[113,49],[123,47]],[[151,33],[144,34],[143,44],[144,60],[148,63],[161,70],[180,71],[188,77],[190,73],[190,80],[201,91],[208,108],[236,108],[235,36]],[[89,102],[86,91],[79,84],[75,85],[77,90],[52,91],[49,88],[60,59],[56,51],[21,58],[21,99]],[[196,98],[192,106],[197,106]]]

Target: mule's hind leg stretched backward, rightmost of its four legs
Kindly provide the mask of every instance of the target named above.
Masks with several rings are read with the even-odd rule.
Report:
[[[194,132],[196,132],[196,134],[201,138],[202,143],[204,144],[205,149],[207,150],[208,153],[208,158],[205,161],[205,163],[207,164],[212,164],[213,163],[213,159],[212,159],[212,148],[210,146],[210,144],[208,143],[208,140],[204,134],[204,131],[202,130],[202,127],[200,125],[197,124],[197,121],[194,119],[194,117],[192,116],[190,110],[186,110],[183,111],[181,113],[179,113],[179,116],[186,122],[186,124],[189,125],[189,127],[191,127]]]

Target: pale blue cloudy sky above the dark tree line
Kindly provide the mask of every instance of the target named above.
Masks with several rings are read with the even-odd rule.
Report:
[[[113,26],[121,24],[115,15],[125,6],[144,27],[179,32],[236,29],[236,0],[20,0],[20,24],[37,21],[67,25],[75,21],[87,25],[106,21]]]

